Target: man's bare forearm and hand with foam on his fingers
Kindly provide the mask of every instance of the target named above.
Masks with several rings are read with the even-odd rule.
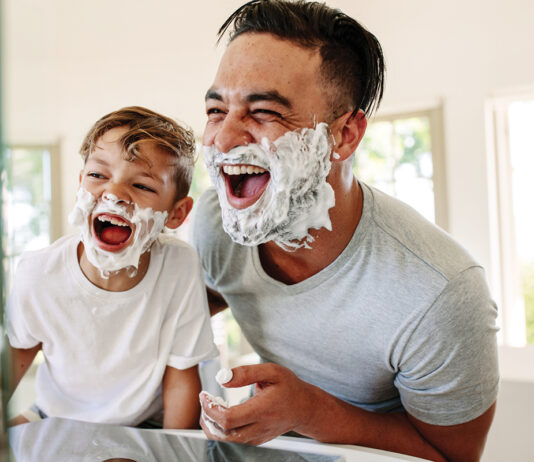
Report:
[[[356,444],[435,461],[476,461],[495,411],[493,404],[464,424],[429,425],[406,413],[378,414],[351,406],[275,364],[237,367],[233,373],[224,386],[256,384],[255,395],[231,408],[210,408],[209,398],[201,395],[203,411],[226,435],[211,434],[201,420],[209,438],[261,444],[293,430],[322,442]]]

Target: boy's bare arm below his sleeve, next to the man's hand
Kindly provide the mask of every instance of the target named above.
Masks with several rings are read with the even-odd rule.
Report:
[[[202,389],[198,366],[175,369],[167,366],[163,376],[163,428],[200,428]]]

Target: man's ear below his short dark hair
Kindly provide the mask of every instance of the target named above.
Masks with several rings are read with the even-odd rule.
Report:
[[[357,112],[347,112],[339,117],[331,126],[335,144],[330,160],[342,162],[348,159],[356,151],[366,128],[367,118],[361,109]]]

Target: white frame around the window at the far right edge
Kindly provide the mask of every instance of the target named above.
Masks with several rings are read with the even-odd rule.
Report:
[[[496,92],[485,102],[486,161],[492,295],[499,307],[499,364],[501,377],[534,382],[534,345],[526,343],[524,307],[515,303],[521,292],[515,223],[508,108],[517,101],[534,100],[534,86]]]

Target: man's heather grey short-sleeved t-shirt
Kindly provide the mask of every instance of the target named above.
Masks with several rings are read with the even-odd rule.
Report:
[[[350,243],[294,285],[265,273],[257,247],[231,241],[207,191],[192,233],[206,283],[263,361],[367,410],[404,408],[435,425],[470,421],[495,401],[499,380],[497,309],[484,271],[412,208],[361,186]]]

